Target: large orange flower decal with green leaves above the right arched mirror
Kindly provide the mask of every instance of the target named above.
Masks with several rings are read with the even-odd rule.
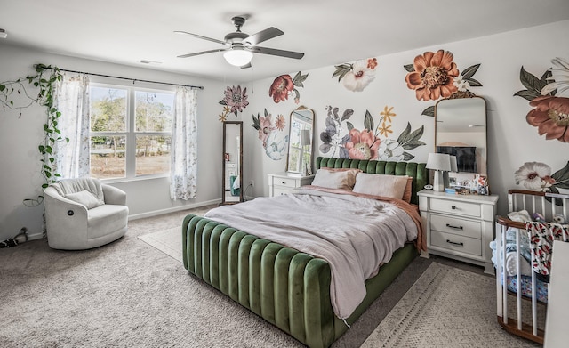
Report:
[[[408,71],[405,76],[407,87],[415,91],[418,101],[437,101],[441,98],[464,98],[475,94],[469,87],[481,87],[482,84],[472,78],[480,64],[470,66],[459,74],[453,61],[453,53],[438,50],[436,53],[425,52],[415,57],[413,64],[404,65]],[[435,107],[424,109],[421,115],[435,116]]]

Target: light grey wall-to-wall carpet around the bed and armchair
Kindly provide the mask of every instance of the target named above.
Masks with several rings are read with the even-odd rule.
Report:
[[[124,238],[92,250],[52,250],[45,239],[0,249],[0,346],[301,347],[139,239],[180,228],[186,214],[132,221]],[[416,258],[333,347],[363,344],[431,263]],[[493,289],[485,299],[495,301]],[[495,312],[478,320],[494,325]]]

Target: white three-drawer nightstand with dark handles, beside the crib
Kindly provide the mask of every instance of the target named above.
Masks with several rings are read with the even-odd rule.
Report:
[[[456,195],[421,190],[419,209],[427,238],[427,253],[484,266],[493,274],[494,217],[498,196]]]

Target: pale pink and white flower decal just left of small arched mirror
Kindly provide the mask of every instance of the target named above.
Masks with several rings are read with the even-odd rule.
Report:
[[[264,116],[257,114],[252,116],[252,127],[259,132],[259,140],[262,142],[263,149],[268,158],[279,160],[284,158],[288,147],[288,135],[278,139],[277,136],[284,131],[286,121],[283,115],[278,115],[273,121],[272,115],[265,109]]]

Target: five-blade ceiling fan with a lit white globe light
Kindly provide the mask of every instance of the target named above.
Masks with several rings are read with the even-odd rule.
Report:
[[[228,61],[229,64],[235,65],[236,67],[241,67],[241,69],[245,69],[251,67],[252,53],[270,54],[279,57],[293,58],[297,60],[300,60],[304,56],[304,53],[277,50],[275,48],[258,46],[258,44],[262,42],[265,42],[271,38],[274,38],[276,36],[281,36],[284,34],[284,32],[282,32],[277,28],[270,27],[266,28],[265,30],[261,30],[256,34],[249,35],[241,31],[241,27],[243,27],[245,23],[244,17],[236,16],[233,17],[231,20],[233,21],[233,24],[236,26],[237,29],[235,32],[226,35],[223,38],[223,41],[207,36],[188,33],[186,31],[180,31],[180,30],[174,31],[174,33],[194,36],[197,38],[201,38],[207,41],[212,41],[214,43],[226,46],[226,48],[219,48],[216,50],[182,54],[179,55],[178,58],[188,58],[205,53],[225,52],[223,53],[223,57],[225,58],[226,61]]]

